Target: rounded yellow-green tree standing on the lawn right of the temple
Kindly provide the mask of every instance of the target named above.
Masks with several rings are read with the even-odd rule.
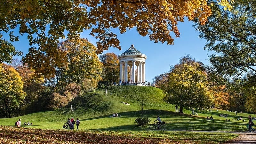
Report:
[[[205,109],[212,106],[212,94],[206,86],[207,75],[201,62],[189,55],[180,58],[180,62],[171,68],[164,86],[164,97],[168,103],[183,108]]]

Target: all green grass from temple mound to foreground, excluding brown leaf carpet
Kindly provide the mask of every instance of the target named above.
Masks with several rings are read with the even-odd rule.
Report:
[[[33,125],[22,125],[24,128],[35,128],[45,130],[61,130],[63,123],[69,117],[78,117],[81,121],[79,132],[105,133],[107,135],[141,137],[140,139],[159,138],[180,143],[220,143],[230,140],[236,135],[214,132],[179,132],[182,130],[198,131],[223,131],[244,132],[247,131],[246,124],[248,115],[245,113],[211,109],[211,111],[197,111],[198,116],[191,116],[191,110],[184,109],[185,114],[175,112],[175,107],[163,101],[163,93],[160,89],[146,86],[116,86],[108,87],[98,92],[89,92],[81,97],[75,98],[67,107],[56,111],[45,111],[1,119],[1,125],[13,126],[21,118],[22,124],[30,121]],[[144,116],[149,117],[153,124],[156,115],[166,122],[165,131],[149,131],[149,126],[138,127],[134,124],[135,119],[141,116],[139,99],[147,97],[147,106],[144,108]],[[130,105],[125,105],[127,102]],[[71,105],[73,111],[71,111]],[[109,117],[113,112],[121,117]],[[219,114],[228,114],[230,122]],[[207,120],[207,116],[213,116],[214,120]],[[236,121],[242,116],[246,121]],[[253,115],[252,115],[253,116]],[[76,126],[75,126],[76,129]],[[67,132],[67,131],[64,131]],[[213,136],[211,136],[213,135]]]

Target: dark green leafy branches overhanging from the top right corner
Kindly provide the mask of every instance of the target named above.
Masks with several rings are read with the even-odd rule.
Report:
[[[214,51],[211,64],[229,80],[240,79],[250,70],[256,73],[256,1],[236,0],[231,11],[217,2],[210,4],[212,16],[205,25],[196,19],[194,27],[207,41],[204,49]]]

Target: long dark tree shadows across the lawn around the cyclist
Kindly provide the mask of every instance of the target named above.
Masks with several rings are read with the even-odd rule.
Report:
[[[119,115],[121,115],[121,117],[140,117],[141,111],[123,112],[123,113],[119,113]],[[166,120],[165,130],[236,131],[236,132],[244,132],[247,130],[245,128],[244,123],[227,122],[224,120],[207,120],[202,117],[196,117],[196,116],[191,116],[187,114],[180,114],[180,113],[175,113],[175,112],[166,111],[166,110],[149,109],[149,110],[146,110],[144,113],[144,116],[146,117],[155,117],[156,115],[160,115],[161,118],[163,118],[162,120],[164,121]],[[106,118],[108,116],[109,115],[92,117],[92,118],[83,119],[82,121]],[[152,124],[152,121],[151,121],[151,124]],[[140,131],[140,130],[149,130],[149,125],[138,127],[135,124],[132,124],[132,125],[121,124],[119,126],[92,129],[92,130]]]

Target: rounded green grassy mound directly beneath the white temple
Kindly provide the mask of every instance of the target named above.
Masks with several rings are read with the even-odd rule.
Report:
[[[107,94],[105,94],[106,89]],[[113,112],[138,111],[143,101],[146,104],[144,109],[173,110],[174,107],[164,102],[163,98],[163,91],[155,87],[110,86],[98,92],[89,92],[76,97],[65,108],[68,110],[72,105],[76,113],[93,113],[95,116],[102,116]]]

